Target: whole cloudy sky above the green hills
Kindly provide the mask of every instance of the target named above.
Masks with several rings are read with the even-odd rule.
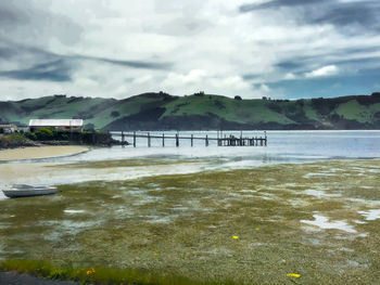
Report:
[[[379,0],[0,0],[0,100],[380,91]]]

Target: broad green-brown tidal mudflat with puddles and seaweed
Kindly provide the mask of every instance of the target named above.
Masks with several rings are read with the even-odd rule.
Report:
[[[119,164],[128,167],[60,168]],[[368,159],[59,185],[54,196],[0,200],[0,258],[243,284],[377,284],[379,181],[380,160]]]

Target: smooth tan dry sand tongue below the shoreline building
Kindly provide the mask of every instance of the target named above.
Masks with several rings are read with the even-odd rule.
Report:
[[[81,145],[36,146],[0,151],[0,161],[67,156],[88,151]]]

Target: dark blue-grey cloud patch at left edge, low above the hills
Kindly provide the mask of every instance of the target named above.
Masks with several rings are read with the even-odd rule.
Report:
[[[34,65],[30,68],[0,72],[0,77],[18,80],[71,81],[71,66],[62,61]]]

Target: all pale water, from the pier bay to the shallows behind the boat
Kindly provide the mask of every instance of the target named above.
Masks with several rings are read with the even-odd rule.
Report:
[[[240,132],[225,134],[240,137]],[[151,132],[162,135],[162,132]],[[166,132],[165,135],[174,135]],[[180,132],[180,135],[216,138],[216,132]],[[264,132],[244,131],[243,137],[261,137]],[[0,171],[8,172],[0,181],[0,189],[11,184],[63,184],[84,181],[129,180],[141,177],[195,173],[202,171],[232,170],[261,167],[275,164],[300,164],[328,159],[368,159],[380,158],[380,131],[268,131],[268,146],[217,146],[211,141],[167,140],[162,147],[162,139],[152,139],[152,147],[147,139],[138,139],[137,147],[98,147],[75,156],[13,161],[0,164]],[[129,142],[131,142],[130,138]],[[154,158],[140,160],[139,158]],[[141,165],[115,165],[111,160],[137,159]],[[89,168],[86,163],[105,160],[105,167]],[[159,163],[157,163],[159,161]],[[181,161],[181,164],[177,164]],[[185,161],[185,163],[182,163]],[[65,167],[66,164],[81,163],[78,168]],[[173,165],[175,164],[175,165]],[[51,166],[60,166],[59,168]],[[61,167],[62,166],[62,167]],[[17,173],[23,173],[22,176]],[[326,174],[326,173],[325,173]],[[4,196],[0,192],[0,199]]]

